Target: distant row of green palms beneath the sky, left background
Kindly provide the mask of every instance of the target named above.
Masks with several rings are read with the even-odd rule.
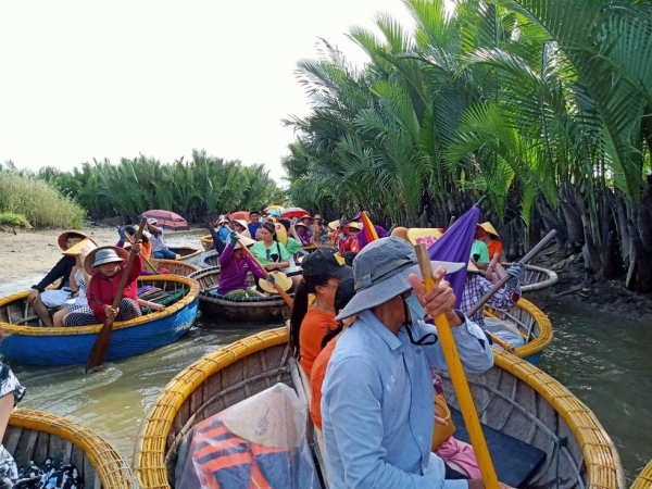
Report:
[[[195,150],[192,159],[161,163],[140,155],[84,163],[73,172],[41,168],[42,178],[77,200],[95,218],[118,215],[134,220],[149,209],[165,209],[189,222],[217,213],[283,204],[287,197],[264,165],[244,166]]]

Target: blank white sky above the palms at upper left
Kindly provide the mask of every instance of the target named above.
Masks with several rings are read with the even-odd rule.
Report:
[[[344,34],[378,12],[411,25],[400,0],[2,2],[0,163],[173,162],[198,148],[280,180],[294,140],[280,120],[309,112],[297,61],[324,37],[362,63]]]

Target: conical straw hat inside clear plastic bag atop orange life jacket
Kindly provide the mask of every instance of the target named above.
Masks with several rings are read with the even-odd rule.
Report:
[[[238,437],[274,448],[302,442],[305,406],[285,384],[276,384],[222,412],[225,426]]]

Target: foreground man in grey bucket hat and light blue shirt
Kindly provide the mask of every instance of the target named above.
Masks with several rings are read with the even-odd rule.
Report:
[[[477,480],[447,479],[443,461],[430,452],[429,367],[447,365],[437,328],[413,318],[405,302],[416,292],[431,317],[444,313],[465,371],[487,371],[493,365],[489,342],[453,310],[454,292],[442,279],[465,266],[432,262],[437,285],[426,293],[414,249],[401,238],[373,241],[353,260],[355,296],[336,319],[358,318],[338,340],[322,387],[333,488],[481,487]]]

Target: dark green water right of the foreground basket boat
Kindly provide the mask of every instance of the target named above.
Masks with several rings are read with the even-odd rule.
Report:
[[[652,459],[652,336],[576,302],[546,309],[554,341],[540,367],[585,402],[615,442],[628,480]]]

